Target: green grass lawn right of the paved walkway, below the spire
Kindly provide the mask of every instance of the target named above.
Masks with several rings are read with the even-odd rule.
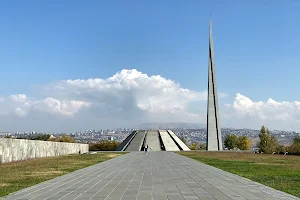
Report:
[[[300,197],[300,156],[195,151],[179,154]]]

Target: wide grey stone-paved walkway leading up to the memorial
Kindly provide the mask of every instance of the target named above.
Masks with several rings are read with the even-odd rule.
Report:
[[[5,199],[299,199],[174,152],[131,152]]]

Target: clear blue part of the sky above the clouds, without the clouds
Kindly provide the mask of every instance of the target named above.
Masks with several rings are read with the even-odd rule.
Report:
[[[6,1],[0,96],[137,69],[207,88],[209,15],[219,92],[297,101],[300,1]]]

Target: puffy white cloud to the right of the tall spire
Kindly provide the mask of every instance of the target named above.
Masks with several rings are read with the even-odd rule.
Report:
[[[240,93],[236,94],[232,104],[224,106],[224,120],[233,125],[251,127],[256,124],[259,128],[263,124],[273,129],[297,126],[300,122],[300,102],[277,102],[271,98],[267,101],[253,101]],[[252,128],[254,128],[252,126]],[[300,126],[299,126],[300,128]]]

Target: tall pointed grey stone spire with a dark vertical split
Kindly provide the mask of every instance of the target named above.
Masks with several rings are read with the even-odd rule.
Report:
[[[208,92],[207,93],[208,93],[208,98],[207,98],[206,150],[221,151],[223,150],[223,146],[222,146],[221,128],[219,123],[220,116],[219,116],[211,17],[210,17],[210,27],[209,27]]]

